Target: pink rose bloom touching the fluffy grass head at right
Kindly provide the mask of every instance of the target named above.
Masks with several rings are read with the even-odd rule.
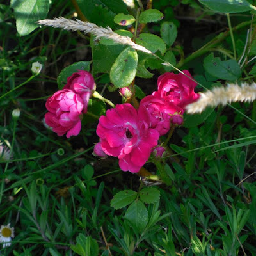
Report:
[[[183,72],[192,78],[188,70],[183,70]],[[194,81],[181,73],[167,72],[158,77],[158,91],[152,93],[152,95],[169,100],[180,108],[184,108],[199,98],[199,94],[194,92],[196,85]]]

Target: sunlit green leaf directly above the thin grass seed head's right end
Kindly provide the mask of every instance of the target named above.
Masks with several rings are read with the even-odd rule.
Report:
[[[136,43],[144,46],[152,52],[156,52],[157,50],[159,50],[161,54],[166,52],[166,44],[162,38],[156,35],[141,33],[138,38],[136,38]]]

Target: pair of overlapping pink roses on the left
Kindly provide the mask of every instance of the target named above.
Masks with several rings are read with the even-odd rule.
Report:
[[[88,101],[95,90],[93,76],[79,70],[68,77],[67,84],[45,104],[45,123],[52,127],[58,136],[67,133],[67,138],[81,131],[81,118],[87,112]]]

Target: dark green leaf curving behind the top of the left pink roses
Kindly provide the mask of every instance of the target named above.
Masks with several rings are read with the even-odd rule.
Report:
[[[78,70],[89,71],[90,61],[79,61],[63,68],[57,78],[58,88],[62,90],[63,86],[67,83],[67,78],[72,76],[73,73],[78,72]]]

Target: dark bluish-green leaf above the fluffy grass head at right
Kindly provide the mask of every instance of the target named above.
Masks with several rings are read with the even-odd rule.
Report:
[[[241,69],[236,60],[221,61],[214,58],[213,53],[204,59],[204,68],[211,76],[223,80],[234,81],[241,76]]]

